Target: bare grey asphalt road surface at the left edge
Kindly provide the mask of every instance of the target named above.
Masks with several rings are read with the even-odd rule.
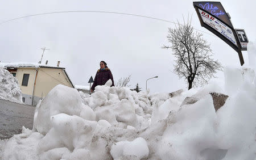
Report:
[[[0,99],[0,139],[21,133],[22,126],[32,129],[35,107]]]

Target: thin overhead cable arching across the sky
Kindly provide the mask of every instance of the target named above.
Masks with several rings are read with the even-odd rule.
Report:
[[[122,15],[131,15],[131,16],[139,16],[139,17],[143,17],[143,18],[150,18],[150,19],[155,19],[155,20],[160,20],[160,21],[163,21],[163,22],[168,22],[168,23],[173,23],[173,24],[177,24],[177,25],[182,25],[182,24],[179,24],[179,23],[175,23],[175,22],[172,22],[170,20],[165,20],[165,19],[160,19],[160,18],[154,18],[152,16],[145,16],[145,15],[138,15],[138,14],[128,14],[128,13],[123,13],[123,12],[110,12],[110,11],[56,11],[56,12],[45,12],[45,13],[40,13],[40,14],[32,14],[32,15],[26,15],[26,16],[20,16],[18,18],[14,18],[14,19],[9,19],[9,20],[5,20],[3,22],[0,23],[0,25],[2,25],[3,23],[7,23],[7,22],[11,22],[11,21],[14,21],[14,20],[18,20],[18,19],[22,19],[22,18],[28,18],[28,17],[31,17],[31,16],[39,16],[39,15],[46,15],[46,14],[60,14],[60,13],[70,13],[70,12],[75,12],[75,13],[83,13],[83,12],[97,12],[97,13],[108,13],[108,14],[122,14]],[[199,30],[199,29],[196,29],[194,28],[195,30],[197,31],[200,31],[200,32],[204,32],[202,30]],[[208,32],[204,32],[204,33],[207,33],[208,35],[212,35]],[[212,35],[212,36],[215,36],[215,35]],[[216,36],[215,36],[216,37]]]

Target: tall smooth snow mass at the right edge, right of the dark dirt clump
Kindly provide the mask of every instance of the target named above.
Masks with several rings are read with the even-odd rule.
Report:
[[[240,90],[217,111],[217,142],[220,148],[228,150],[226,159],[255,158],[255,93],[255,85],[244,82]]]

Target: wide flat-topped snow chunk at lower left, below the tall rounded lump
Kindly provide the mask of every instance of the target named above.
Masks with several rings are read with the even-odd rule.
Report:
[[[51,117],[52,128],[38,144],[38,153],[42,154],[54,148],[82,148],[92,141],[96,121],[87,121],[79,116],[64,113]]]

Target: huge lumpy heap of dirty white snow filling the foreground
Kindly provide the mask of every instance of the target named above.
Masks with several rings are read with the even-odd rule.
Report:
[[[253,44],[249,49],[256,55]],[[0,157],[255,159],[256,81],[251,66],[225,68],[224,88],[210,83],[172,97],[110,87],[110,81],[92,95],[58,85],[36,106],[33,130],[23,128],[0,141],[1,148],[5,145]],[[229,96],[217,112],[209,92]],[[184,104],[188,96],[197,102]]]

